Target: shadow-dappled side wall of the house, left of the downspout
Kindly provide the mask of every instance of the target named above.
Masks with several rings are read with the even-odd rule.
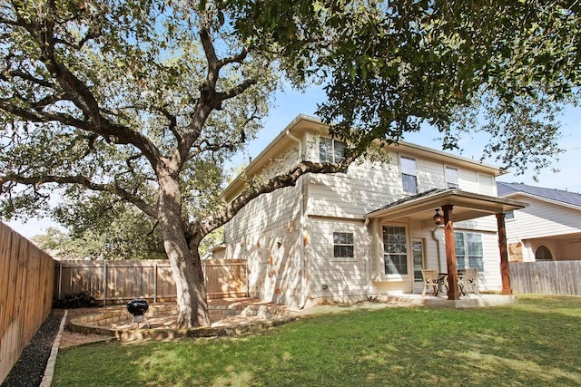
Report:
[[[248,260],[251,296],[300,304],[300,184],[252,200],[224,229],[225,256]]]

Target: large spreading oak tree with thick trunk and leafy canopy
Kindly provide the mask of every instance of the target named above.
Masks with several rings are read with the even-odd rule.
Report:
[[[56,188],[131,204],[162,233],[178,324],[209,324],[202,238],[373,140],[427,122],[449,148],[478,129],[507,166],[545,166],[554,114],[581,82],[578,16],[558,1],[3,0],[2,213],[47,210]],[[223,161],[259,130],[282,76],[326,83],[319,113],[349,157],[300,161],[220,203]]]

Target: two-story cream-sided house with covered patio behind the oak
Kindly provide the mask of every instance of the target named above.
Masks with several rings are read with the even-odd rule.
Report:
[[[222,198],[230,201],[248,179],[267,179],[300,159],[340,160],[344,147],[319,120],[299,116]],[[409,143],[387,149],[389,161],[306,174],[294,187],[255,198],[231,219],[221,254],[248,260],[251,296],[302,307],[420,293],[421,269],[447,272],[453,260],[458,269],[478,268],[481,290],[510,291],[501,281],[498,249],[497,222],[504,220],[490,215],[525,204],[497,198],[501,171]],[[437,208],[450,220],[446,232],[434,223]]]

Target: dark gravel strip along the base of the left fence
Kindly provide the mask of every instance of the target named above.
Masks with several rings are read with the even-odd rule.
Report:
[[[8,373],[2,387],[37,387],[43,380],[46,362],[63,319],[64,309],[53,309],[33,339],[25,346],[20,359]]]

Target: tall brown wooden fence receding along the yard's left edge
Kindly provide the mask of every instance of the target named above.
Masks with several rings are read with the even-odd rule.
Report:
[[[53,305],[54,260],[0,222],[0,382]]]

